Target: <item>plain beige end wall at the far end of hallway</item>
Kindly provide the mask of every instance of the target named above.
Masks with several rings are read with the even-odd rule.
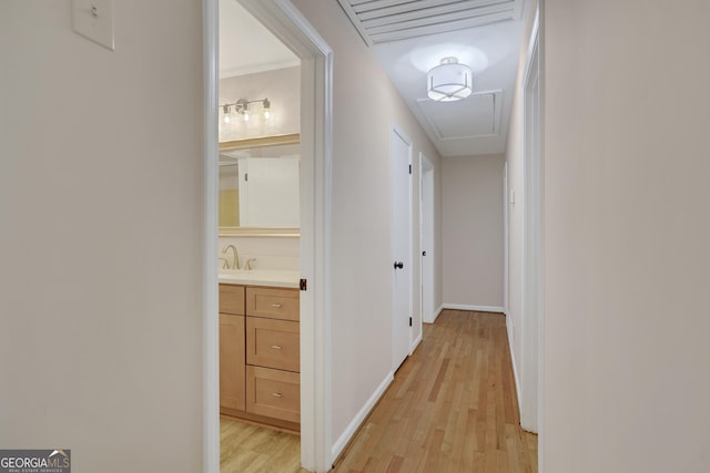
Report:
[[[442,160],[444,305],[503,310],[503,155]]]

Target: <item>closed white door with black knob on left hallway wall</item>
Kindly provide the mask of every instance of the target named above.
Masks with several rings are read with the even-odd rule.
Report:
[[[396,127],[390,138],[392,369],[409,354],[412,323],[412,142]]]

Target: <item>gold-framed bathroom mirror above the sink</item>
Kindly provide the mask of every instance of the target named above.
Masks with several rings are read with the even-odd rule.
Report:
[[[297,133],[220,143],[220,235],[297,236]]]

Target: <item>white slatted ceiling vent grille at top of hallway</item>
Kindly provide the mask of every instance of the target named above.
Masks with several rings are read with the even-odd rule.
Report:
[[[367,45],[515,21],[523,0],[338,0]]]

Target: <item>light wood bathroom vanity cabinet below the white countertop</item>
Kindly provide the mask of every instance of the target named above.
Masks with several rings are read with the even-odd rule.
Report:
[[[300,430],[298,290],[220,285],[220,412]]]

